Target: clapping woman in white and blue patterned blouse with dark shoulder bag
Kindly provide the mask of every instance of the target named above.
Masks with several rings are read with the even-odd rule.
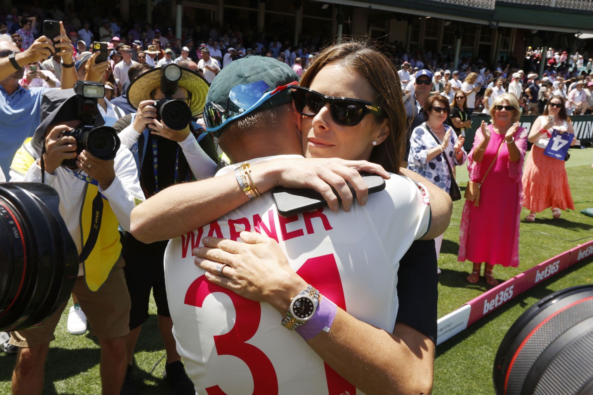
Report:
[[[427,121],[416,127],[410,137],[408,169],[449,193],[455,179],[452,169],[466,162],[465,139],[463,136],[457,139],[452,127],[443,124],[449,113],[449,101],[444,96],[431,96],[424,105],[423,113]],[[443,235],[435,239],[436,259],[439,258],[442,239]]]

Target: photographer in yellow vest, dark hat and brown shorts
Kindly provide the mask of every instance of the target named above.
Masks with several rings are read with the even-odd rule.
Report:
[[[132,208],[144,195],[126,147],[117,149],[114,139],[109,156],[113,159],[102,160],[90,153],[97,152],[97,147],[72,136],[99,133],[91,128],[104,123],[96,110],[96,97],[103,87],[91,85],[94,96],[88,99],[88,84],[93,83],[76,82],[76,94],[52,90],[43,95],[41,123],[16,153],[10,175],[11,181],[43,182],[58,191],[59,212],[80,254],[73,292],[101,346],[103,393],[113,394],[119,393],[126,372],[130,308],[117,229],[129,229]],[[11,332],[10,343],[20,348],[12,375],[14,394],[42,393],[49,343],[55,339],[53,332],[66,303],[42,327]]]

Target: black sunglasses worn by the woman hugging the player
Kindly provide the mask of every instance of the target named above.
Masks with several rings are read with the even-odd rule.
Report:
[[[298,85],[290,89],[295,108],[305,117],[314,117],[326,103],[330,105],[331,117],[340,125],[356,126],[366,114],[381,115],[381,107],[370,101],[326,96]]]

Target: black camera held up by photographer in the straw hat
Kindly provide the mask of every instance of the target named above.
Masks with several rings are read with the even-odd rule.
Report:
[[[162,67],[161,91],[164,98],[155,101],[157,121],[164,123],[169,129],[183,130],[192,121],[192,111],[186,102],[174,99],[178,82],[181,79],[181,68],[174,63]]]

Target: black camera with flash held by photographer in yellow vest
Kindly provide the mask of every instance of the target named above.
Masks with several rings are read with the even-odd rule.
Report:
[[[82,127],[62,132],[62,136],[72,136],[76,139],[76,153],[87,150],[102,160],[114,159],[120,147],[117,131],[110,126],[95,127],[98,114],[97,102],[105,96],[105,86],[100,82],[76,81],[74,92],[78,99],[78,119]],[[76,158],[65,159],[64,166],[76,167]]]

